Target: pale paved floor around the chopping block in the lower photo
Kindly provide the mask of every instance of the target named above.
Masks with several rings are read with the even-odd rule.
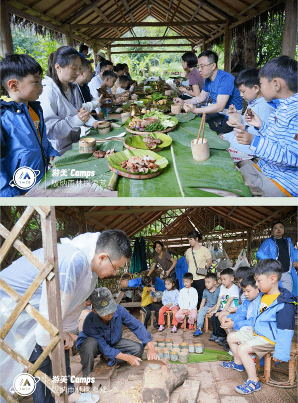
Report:
[[[138,311],[137,311],[138,312]],[[137,315],[136,315],[137,316]],[[204,348],[222,349],[217,343],[209,341],[210,335],[203,334],[193,337],[191,333],[181,329],[176,334],[170,333],[170,329],[157,333],[156,329],[149,329],[153,340],[159,337],[172,338],[174,342],[186,341],[203,343]],[[123,331],[123,337],[137,340],[137,337],[129,330]],[[117,369],[116,377],[111,380],[111,389],[99,393],[102,403],[142,403],[140,399],[144,364],[140,367],[131,367],[128,364]],[[246,373],[224,369],[222,362],[203,362],[187,364],[189,376],[187,379],[200,381],[200,392],[197,403],[296,403],[297,389],[280,389],[261,383],[261,390],[249,396],[242,396],[235,392],[234,387],[246,380]],[[287,367],[287,364],[282,364]],[[72,375],[82,376],[80,358],[78,354],[71,357]],[[96,386],[96,385],[95,385]],[[181,387],[171,394],[170,403],[177,403]],[[23,403],[33,403],[32,398],[22,400]],[[42,402],[40,402],[42,403]]]

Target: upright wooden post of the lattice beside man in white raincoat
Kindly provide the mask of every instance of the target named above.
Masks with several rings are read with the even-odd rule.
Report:
[[[53,376],[66,375],[66,363],[64,355],[64,341],[62,328],[62,313],[59,285],[59,268],[58,268],[58,252],[57,252],[57,234],[56,234],[56,216],[55,207],[51,206],[51,212],[47,217],[41,218],[42,243],[44,248],[45,262],[50,261],[54,265],[54,277],[49,281],[46,280],[48,312],[50,322],[59,329],[60,341],[56,344],[52,351],[52,368]],[[51,336],[51,338],[53,338]],[[67,387],[67,383],[61,383],[59,386]],[[68,394],[63,393],[63,402],[68,403]],[[55,397],[55,401],[58,402]]]

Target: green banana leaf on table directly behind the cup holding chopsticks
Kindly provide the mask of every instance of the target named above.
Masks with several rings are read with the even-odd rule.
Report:
[[[197,138],[200,128],[201,118],[196,117],[194,120],[178,125],[174,130],[169,132],[169,136],[178,143],[190,147],[190,142]],[[218,150],[226,150],[230,143],[221,136],[213,132],[208,125],[205,126],[204,137],[208,139],[209,148]]]

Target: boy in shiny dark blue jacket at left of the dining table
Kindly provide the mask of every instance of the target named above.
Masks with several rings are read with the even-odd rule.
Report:
[[[58,156],[46,135],[40,102],[42,68],[28,55],[1,60],[1,197],[19,196],[39,182]]]

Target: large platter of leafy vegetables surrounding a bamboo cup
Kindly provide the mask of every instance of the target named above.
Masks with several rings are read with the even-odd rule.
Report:
[[[148,118],[156,118],[157,122],[154,122],[146,126],[144,120]],[[129,118],[125,122],[126,130],[133,134],[150,134],[151,132],[167,133],[175,129],[178,124],[178,120],[174,116],[165,115],[159,111],[147,112],[144,116],[137,116]],[[154,126],[153,126],[154,125]]]

